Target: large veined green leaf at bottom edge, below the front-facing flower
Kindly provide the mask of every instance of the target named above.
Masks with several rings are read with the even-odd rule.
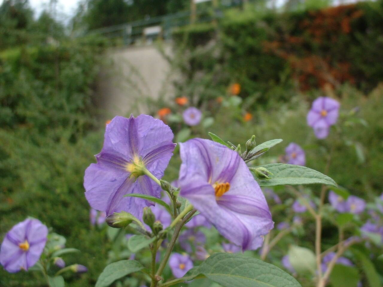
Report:
[[[224,287],[300,287],[278,267],[242,254],[215,253],[187,272],[185,281],[205,276]]]

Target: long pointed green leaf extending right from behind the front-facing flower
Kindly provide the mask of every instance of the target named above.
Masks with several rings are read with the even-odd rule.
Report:
[[[267,168],[272,173],[270,179],[258,179],[255,177],[260,186],[314,183],[337,186],[336,182],[329,176],[306,166],[288,165],[285,163],[269,163],[267,165],[260,166]]]

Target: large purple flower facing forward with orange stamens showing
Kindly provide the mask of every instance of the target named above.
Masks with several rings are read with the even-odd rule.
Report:
[[[265,197],[237,152],[206,139],[181,143],[180,195],[228,240],[257,249],[273,228]]]

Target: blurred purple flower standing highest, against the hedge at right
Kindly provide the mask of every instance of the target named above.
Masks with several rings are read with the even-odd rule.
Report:
[[[315,136],[324,139],[329,134],[330,126],[336,123],[340,104],[335,99],[319,97],[313,101],[307,114],[307,124],[313,127]]]

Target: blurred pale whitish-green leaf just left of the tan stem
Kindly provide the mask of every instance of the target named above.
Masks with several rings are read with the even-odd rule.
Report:
[[[288,258],[291,265],[299,274],[307,272],[315,274],[316,258],[314,252],[310,249],[300,246],[291,246],[288,251]]]

